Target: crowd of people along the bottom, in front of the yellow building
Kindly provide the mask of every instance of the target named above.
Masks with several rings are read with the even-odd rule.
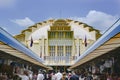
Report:
[[[102,78],[101,78],[102,77]],[[0,80],[120,80],[120,78],[114,77],[112,75],[107,75],[107,78],[104,76],[92,74],[91,72],[46,72],[39,70],[36,73],[32,71],[24,70],[23,74],[20,74],[16,69],[16,72],[13,74],[13,77],[7,77],[7,74],[0,74]]]

